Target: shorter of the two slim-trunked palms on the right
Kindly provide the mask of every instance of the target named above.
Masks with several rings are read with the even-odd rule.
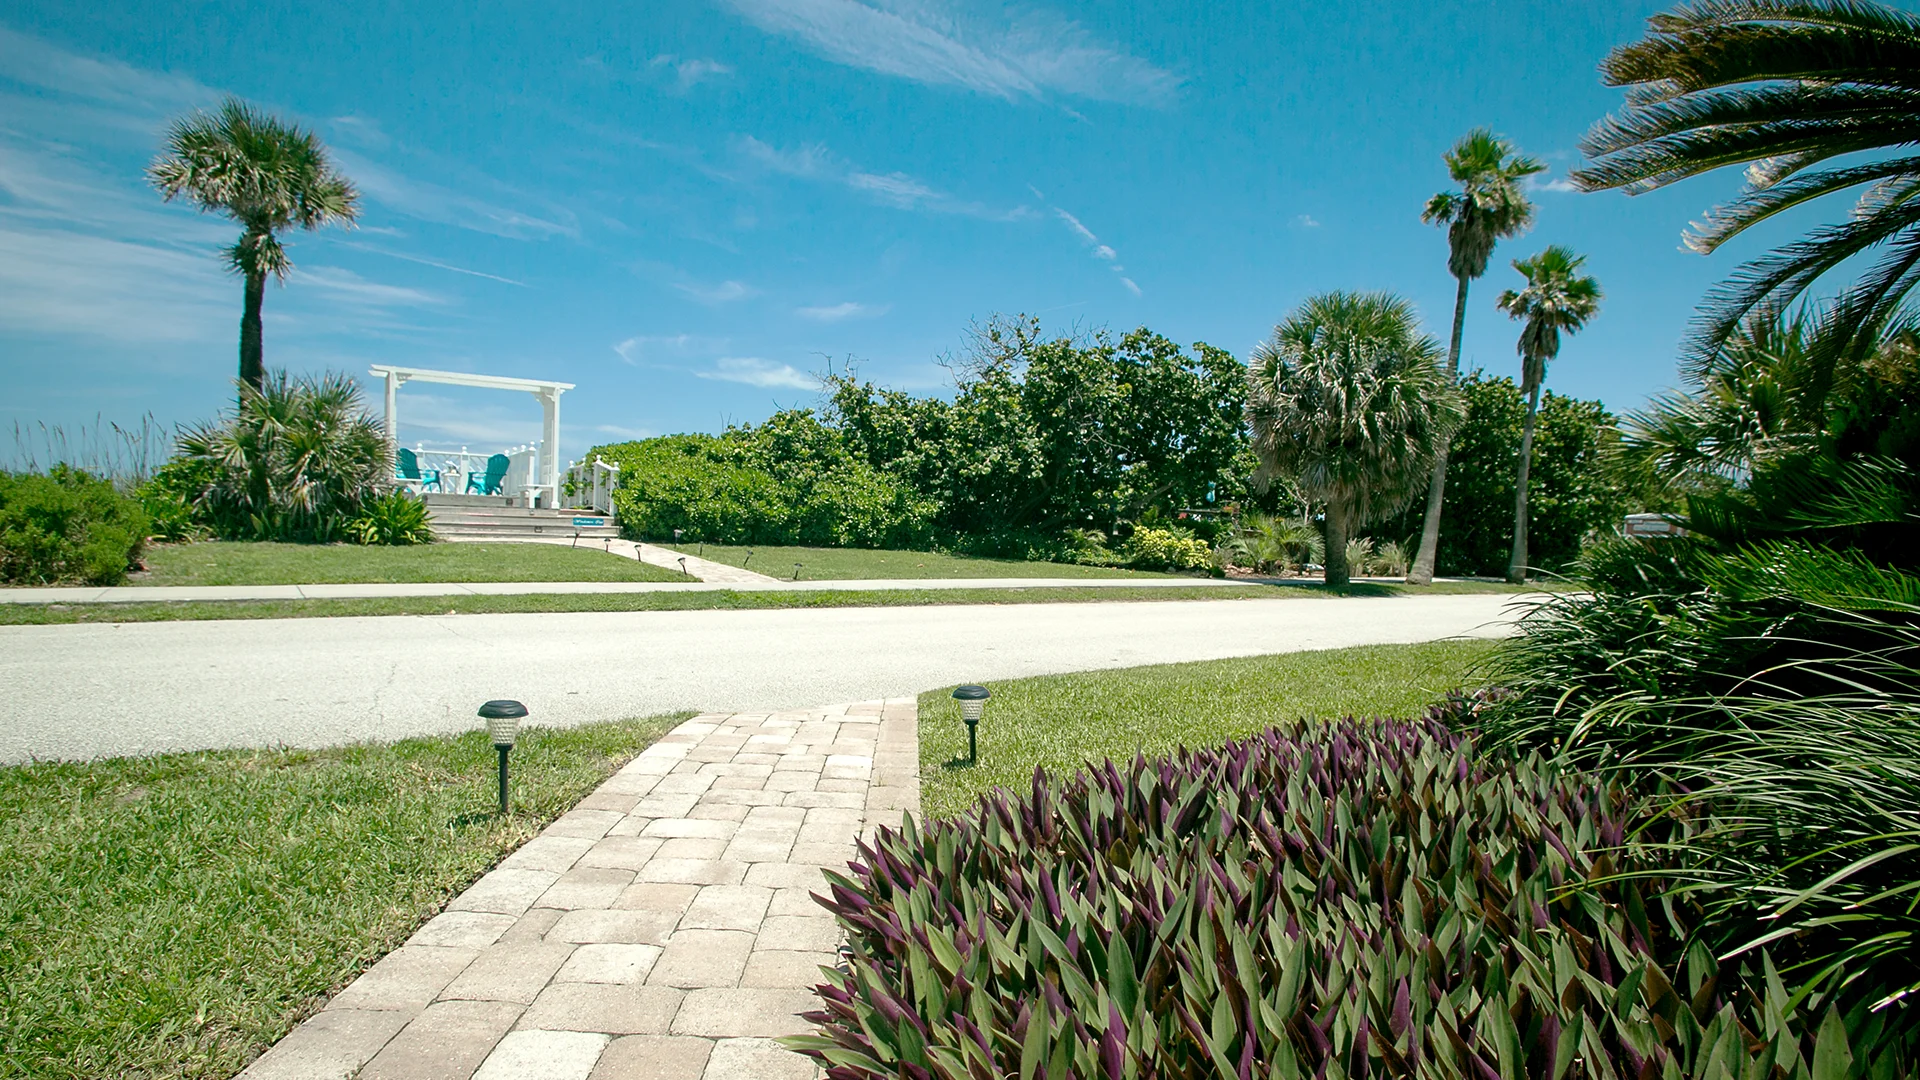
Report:
[[[1599,282],[1580,273],[1586,256],[1553,244],[1530,259],[1513,259],[1526,288],[1500,294],[1500,309],[1526,319],[1521,329],[1521,392],[1526,394],[1526,421],[1521,427],[1521,480],[1513,496],[1513,559],[1507,580],[1526,580],[1526,473],[1534,461],[1534,417],[1540,413],[1540,384],[1548,380],[1548,361],[1559,356],[1561,332],[1578,332],[1599,311]]]

